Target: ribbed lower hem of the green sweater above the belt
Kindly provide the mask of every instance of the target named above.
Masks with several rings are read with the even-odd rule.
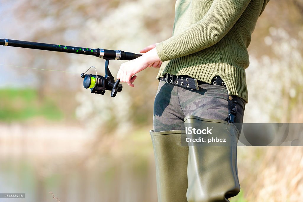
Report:
[[[248,103],[248,91],[243,67],[188,55],[163,62],[157,79],[166,73],[177,76],[187,75],[207,83],[211,83],[214,76],[220,76],[225,82],[228,95],[238,96]]]

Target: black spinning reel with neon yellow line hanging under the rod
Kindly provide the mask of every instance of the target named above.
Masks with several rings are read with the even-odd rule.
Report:
[[[111,72],[108,69],[108,59],[105,59],[105,76],[101,76],[97,74],[86,74],[90,68],[85,73],[81,74],[81,77],[84,78],[83,86],[84,88],[90,88],[91,93],[101,94],[104,95],[105,90],[111,90],[111,97],[115,97],[118,92],[122,91],[122,84],[120,84],[120,79],[115,81],[114,77],[112,76]]]

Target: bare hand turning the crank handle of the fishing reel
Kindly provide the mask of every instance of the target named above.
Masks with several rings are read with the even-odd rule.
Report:
[[[143,56],[123,63],[118,71],[117,79],[120,79],[121,82],[126,82],[128,86],[135,87],[133,84],[137,78],[135,74],[146,69],[148,66],[153,66],[155,63],[159,64],[160,62],[162,63],[154,47],[147,50]]]

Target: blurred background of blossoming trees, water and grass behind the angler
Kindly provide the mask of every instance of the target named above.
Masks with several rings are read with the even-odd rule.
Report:
[[[0,0],[0,38],[124,50],[168,39],[174,0]],[[303,123],[303,0],[270,1],[246,70],[246,123]],[[121,61],[111,61],[116,75]],[[157,69],[115,99],[80,77],[92,56],[0,47],[0,201],[157,201],[149,130]],[[35,69],[29,69],[35,68]],[[45,71],[37,69],[60,70]],[[89,73],[94,73],[93,70]],[[241,193],[231,201],[301,201],[302,147],[238,147]],[[58,201],[57,200],[57,201]]]

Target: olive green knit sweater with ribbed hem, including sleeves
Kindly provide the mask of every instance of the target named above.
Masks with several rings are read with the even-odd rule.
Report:
[[[211,83],[218,75],[229,95],[248,102],[247,47],[269,0],[177,0],[173,36],[156,46],[165,73]],[[164,62],[165,61],[165,62]]]

